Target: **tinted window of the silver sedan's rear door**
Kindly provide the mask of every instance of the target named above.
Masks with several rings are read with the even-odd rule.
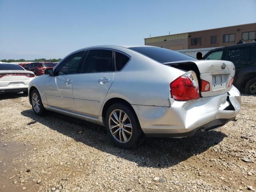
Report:
[[[82,73],[98,73],[114,71],[111,50],[89,50]]]

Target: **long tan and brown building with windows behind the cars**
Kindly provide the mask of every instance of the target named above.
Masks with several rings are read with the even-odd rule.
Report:
[[[239,40],[252,42],[256,38],[256,23],[209,30],[145,38],[145,45],[172,50],[221,47],[236,44]]]

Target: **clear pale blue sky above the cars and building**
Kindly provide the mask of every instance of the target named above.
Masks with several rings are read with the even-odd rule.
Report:
[[[256,22],[256,0],[0,0],[0,59]]]

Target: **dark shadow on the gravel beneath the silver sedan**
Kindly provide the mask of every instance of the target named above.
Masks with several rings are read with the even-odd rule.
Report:
[[[218,131],[202,132],[188,138],[145,138],[138,146],[129,150],[118,148],[110,142],[103,126],[77,118],[47,111],[46,116],[36,116],[33,110],[24,110],[23,116],[31,118],[29,124],[39,122],[78,142],[119,158],[135,162],[138,166],[167,168],[201,154],[218,144],[226,134]]]

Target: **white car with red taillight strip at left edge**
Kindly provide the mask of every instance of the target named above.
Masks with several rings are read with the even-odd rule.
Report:
[[[0,62],[0,94],[8,92],[28,92],[28,84],[35,75],[18,64]]]

